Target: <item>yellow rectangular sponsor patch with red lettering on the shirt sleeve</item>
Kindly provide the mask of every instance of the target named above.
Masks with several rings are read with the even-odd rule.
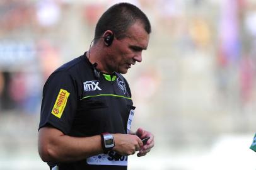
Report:
[[[69,98],[69,94],[70,93],[68,93],[64,89],[61,89],[59,91],[59,95],[57,96],[57,99],[55,101],[54,108],[52,109],[52,115],[61,118],[61,115],[67,104],[67,98]]]

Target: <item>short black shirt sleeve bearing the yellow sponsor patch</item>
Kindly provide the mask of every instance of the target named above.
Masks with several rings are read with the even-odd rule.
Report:
[[[54,72],[43,90],[39,129],[50,124],[69,133],[76,114],[78,93],[76,82],[68,71]]]

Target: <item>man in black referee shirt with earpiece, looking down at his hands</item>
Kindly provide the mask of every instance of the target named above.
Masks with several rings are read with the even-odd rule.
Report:
[[[121,75],[141,62],[149,33],[139,8],[115,4],[98,21],[89,52],[47,79],[38,150],[50,169],[127,169],[127,156],[145,156],[153,147],[152,133],[131,132],[135,106]]]

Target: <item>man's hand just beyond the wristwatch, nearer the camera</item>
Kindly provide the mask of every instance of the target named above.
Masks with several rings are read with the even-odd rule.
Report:
[[[127,134],[113,134],[115,140],[115,147],[113,150],[120,154],[121,156],[129,156],[135,154],[143,147],[143,142],[137,135],[127,135]]]

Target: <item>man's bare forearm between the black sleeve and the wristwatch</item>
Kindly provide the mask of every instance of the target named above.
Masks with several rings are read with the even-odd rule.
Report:
[[[93,137],[51,135],[50,137],[49,130],[47,133],[40,135],[38,141],[39,154],[45,162],[79,161],[103,152],[100,135]],[[42,139],[45,136],[48,138]]]

